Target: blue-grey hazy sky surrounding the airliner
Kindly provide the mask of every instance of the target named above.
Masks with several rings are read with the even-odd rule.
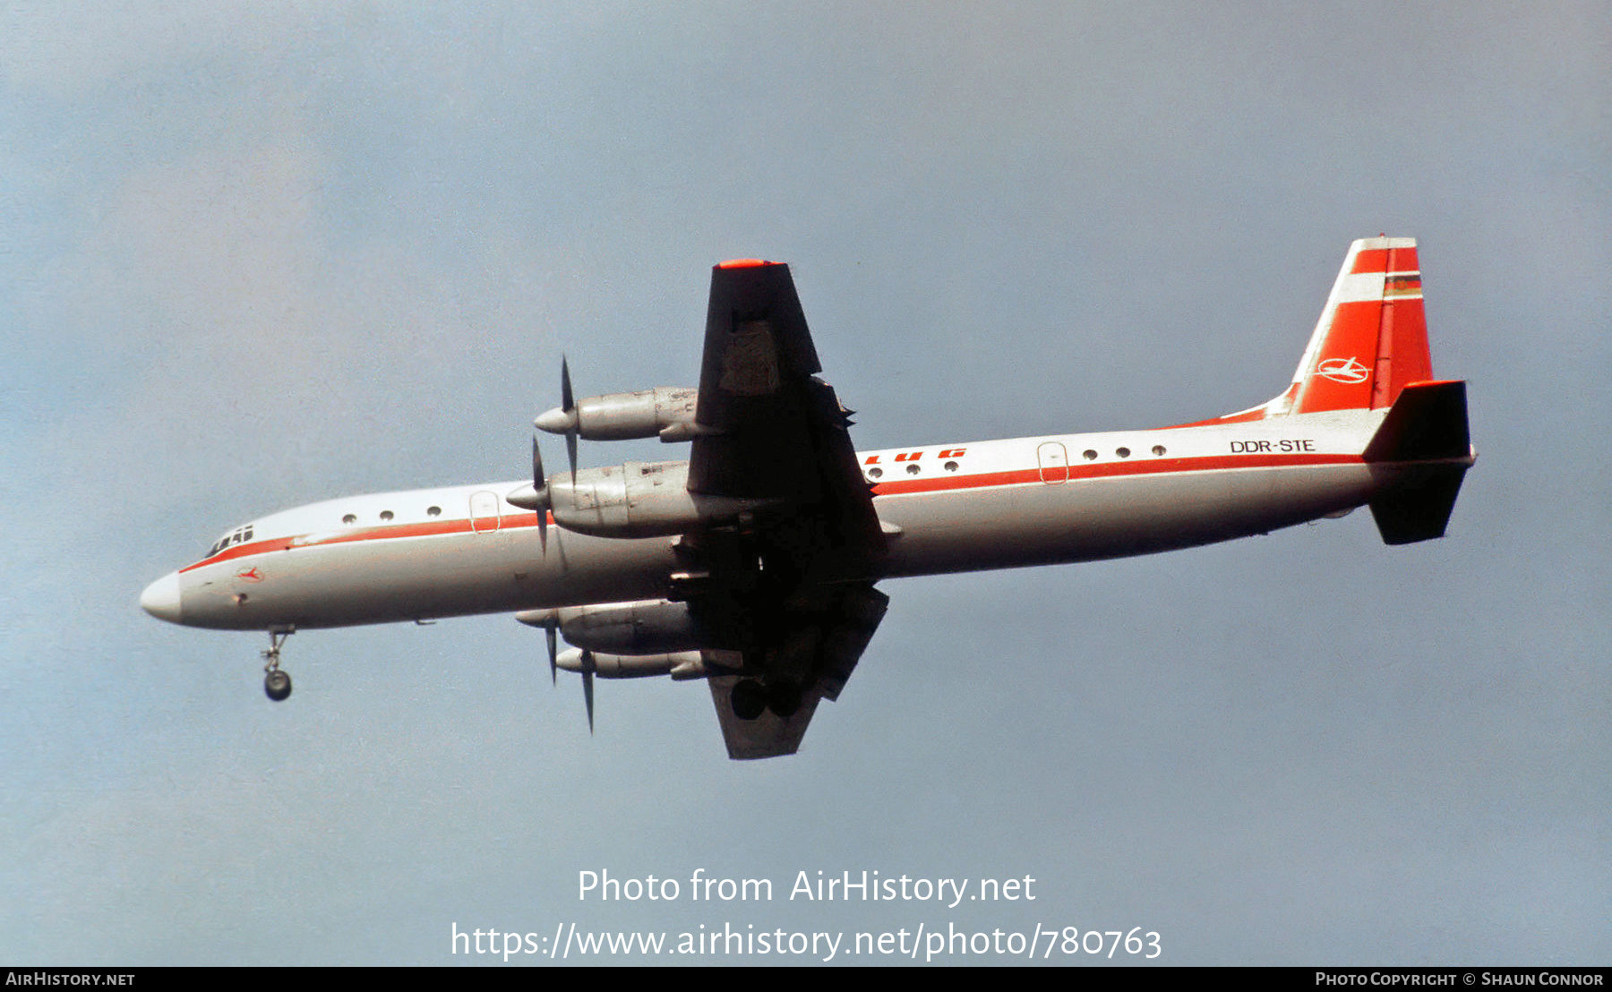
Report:
[[[1378,232],[1470,382],[1446,539],[885,583],[791,758],[661,680],[590,738],[508,617],[297,634],[271,705],[258,636],[135,606],[264,512],[517,478],[561,353],[693,383],[722,258],[793,264],[883,448],[1261,403]],[[0,6],[0,961],[951,923],[1606,963],[1609,264],[1594,2]],[[575,897],[696,868],[777,899]]]

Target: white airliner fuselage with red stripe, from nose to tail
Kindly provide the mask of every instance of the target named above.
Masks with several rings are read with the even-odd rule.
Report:
[[[930,444],[858,456],[888,556],[867,578],[1149,554],[1365,504],[1386,411]],[[305,630],[658,599],[677,538],[595,538],[506,496],[527,480],[332,499],[237,528],[142,606],[189,626]]]

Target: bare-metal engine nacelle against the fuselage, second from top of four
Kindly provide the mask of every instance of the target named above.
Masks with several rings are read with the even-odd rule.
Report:
[[[625,462],[548,482],[555,523],[596,538],[654,538],[733,523],[750,499],[688,491],[688,462]]]

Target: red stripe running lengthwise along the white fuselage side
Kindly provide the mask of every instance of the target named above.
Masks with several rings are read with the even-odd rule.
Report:
[[[1101,462],[1091,465],[1069,465],[1069,482],[1086,478],[1116,478],[1124,475],[1172,475],[1188,472],[1217,472],[1224,469],[1282,469],[1298,465],[1357,465],[1357,454],[1264,454],[1236,456],[1217,454],[1207,457],[1146,457],[1127,462]],[[1012,469],[1008,472],[980,472],[975,475],[946,475],[932,478],[898,478],[882,482],[874,486],[874,496],[904,496],[911,493],[940,493],[949,490],[988,490],[993,486],[1017,486],[1040,483],[1040,469]],[[1045,485],[1045,483],[1043,483]],[[555,515],[548,515],[555,522]],[[517,527],[537,527],[537,514],[508,514],[500,520],[498,530]],[[192,572],[203,565],[216,565],[231,559],[250,557],[269,551],[285,551],[295,548],[326,548],[329,544],[351,544],[356,541],[388,541],[393,538],[427,538],[435,535],[471,533],[469,520],[432,520],[429,523],[395,523],[388,527],[364,527],[343,531],[340,535],[311,544],[293,544],[297,538],[269,538],[250,544],[235,544],[202,559],[193,565],[185,565],[181,572]]]

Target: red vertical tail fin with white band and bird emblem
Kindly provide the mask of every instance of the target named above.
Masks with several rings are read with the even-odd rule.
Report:
[[[1433,378],[1415,238],[1349,245],[1338,282],[1293,374],[1291,407],[1314,414],[1393,406],[1407,383]]]

